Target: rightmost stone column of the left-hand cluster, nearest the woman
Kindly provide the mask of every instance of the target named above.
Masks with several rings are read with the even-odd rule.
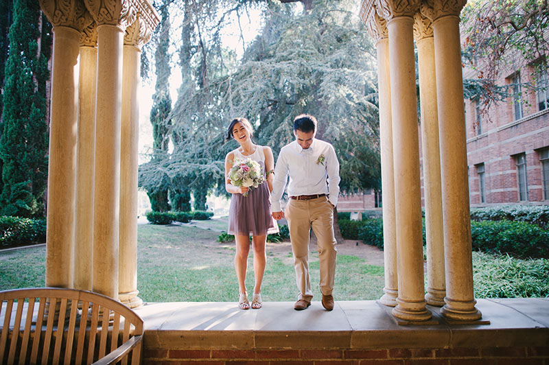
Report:
[[[138,16],[126,28],[122,73],[122,124],[120,155],[119,299],[130,308],[143,303],[137,296],[137,169],[139,143],[139,69],[141,46],[150,31]]]

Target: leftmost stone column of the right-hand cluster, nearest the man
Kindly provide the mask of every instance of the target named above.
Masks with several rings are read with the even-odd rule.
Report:
[[[366,5],[366,6],[364,6]],[[397,228],[395,220],[395,174],[393,171],[393,123],[390,114],[389,40],[387,22],[373,4],[363,3],[363,19],[377,40],[377,85],[379,87],[379,139],[382,157],[383,257],[385,268],[384,305],[395,307],[398,296]]]

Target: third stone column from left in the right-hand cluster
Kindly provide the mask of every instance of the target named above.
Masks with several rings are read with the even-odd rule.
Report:
[[[423,148],[423,191],[425,193],[425,235],[427,237],[427,294],[425,300],[436,307],[444,305],[444,237],[442,225],[441,159],[439,118],[436,110],[436,73],[431,21],[414,15],[414,38],[419,69],[421,141]]]

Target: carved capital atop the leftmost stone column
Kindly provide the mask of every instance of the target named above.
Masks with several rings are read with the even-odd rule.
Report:
[[[71,27],[82,32],[93,22],[82,0],[40,0],[40,8],[54,27]]]

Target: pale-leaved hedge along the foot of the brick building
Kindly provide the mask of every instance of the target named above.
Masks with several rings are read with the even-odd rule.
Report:
[[[504,205],[471,209],[471,220],[514,220],[549,228],[549,205]]]

